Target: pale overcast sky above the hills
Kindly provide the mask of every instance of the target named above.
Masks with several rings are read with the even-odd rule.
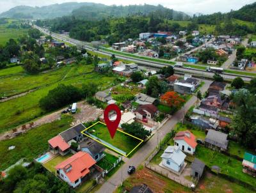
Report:
[[[229,12],[230,10],[238,10],[245,4],[255,2],[255,0],[0,0],[0,13],[8,11],[10,8],[17,5],[28,6],[44,6],[54,3],[67,3],[70,1],[76,2],[93,2],[102,4],[162,4],[165,7],[173,10],[189,12],[189,13],[214,13],[214,12]]]

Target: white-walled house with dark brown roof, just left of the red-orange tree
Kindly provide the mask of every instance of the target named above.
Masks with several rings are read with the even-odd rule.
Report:
[[[158,110],[155,105],[140,105],[135,111],[134,114],[138,120],[147,120],[153,119],[157,116]]]

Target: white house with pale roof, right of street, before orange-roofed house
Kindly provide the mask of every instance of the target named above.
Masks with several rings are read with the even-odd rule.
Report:
[[[161,155],[161,164],[170,170],[180,172],[185,164],[186,155],[177,146],[168,146]],[[160,164],[160,165],[161,165]]]

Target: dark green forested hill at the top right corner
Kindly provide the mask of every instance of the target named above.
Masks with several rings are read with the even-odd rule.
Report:
[[[220,24],[227,19],[239,19],[249,22],[256,22],[256,2],[247,4],[237,11],[228,13],[213,13],[211,15],[200,15],[194,17],[193,20],[198,24]]]

